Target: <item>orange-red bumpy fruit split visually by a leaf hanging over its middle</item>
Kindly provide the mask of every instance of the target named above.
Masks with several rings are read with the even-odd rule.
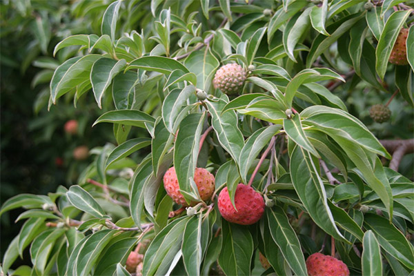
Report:
[[[194,181],[195,184],[197,184],[201,199],[204,201],[209,200],[215,189],[214,175],[205,168],[196,168],[194,172]],[[166,188],[168,195],[172,200],[177,202],[177,204],[181,204],[182,206],[195,206],[195,204],[197,204],[197,202],[187,204],[186,199],[179,193],[178,179],[174,167],[169,168],[164,175],[164,188]]]

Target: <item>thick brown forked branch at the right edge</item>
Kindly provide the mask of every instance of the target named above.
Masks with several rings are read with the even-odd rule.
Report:
[[[398,171],[402,157],[408,153],[414,152],[414,139],[406,140],[380,140],[380,143],[388,152],[393,153],[390,162],[390,168]]]

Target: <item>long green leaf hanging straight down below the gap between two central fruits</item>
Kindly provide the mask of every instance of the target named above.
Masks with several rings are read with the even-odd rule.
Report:
[[[203,215],[190,218],[184,230],[181,250],[188,275],[200,275],[201,262],[208,244],[208,218]]]

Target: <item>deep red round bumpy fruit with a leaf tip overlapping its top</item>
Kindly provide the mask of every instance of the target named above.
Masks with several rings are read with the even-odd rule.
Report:
[[[264,199],[252,187],[239,183],[235,193],[235,205],[231,204],[227,187],[219,195],[219,211],[226,221],[234,224],[255,224],[264,213]]]

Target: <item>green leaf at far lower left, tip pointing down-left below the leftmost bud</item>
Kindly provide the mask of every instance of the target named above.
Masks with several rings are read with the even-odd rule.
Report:
[[[23,250],[32,242],[34,237],[36,237],[41,230],[45,228],[44,217],[31,217],[28,219],[23,226],[21,226],[19,233],[19,241],[17,243],[17,252],[20,257],[23,256]]]

